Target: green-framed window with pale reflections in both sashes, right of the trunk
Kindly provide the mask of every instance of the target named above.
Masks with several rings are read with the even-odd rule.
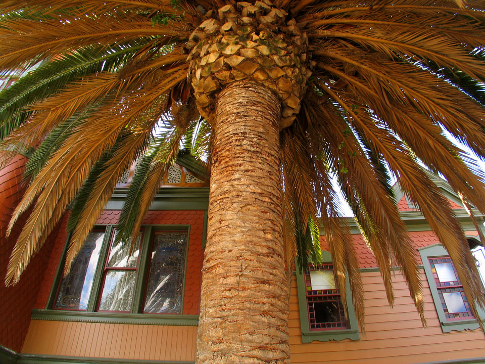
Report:
[[[419,249],[419,253],[443,332],[477,329],[478,323],[445,248],[435,244]],[[485,313],[478,310],[484,319]]]

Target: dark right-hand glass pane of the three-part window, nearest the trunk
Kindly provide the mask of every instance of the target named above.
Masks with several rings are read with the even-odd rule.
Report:
[[[154,237],[144,312],[180,313],[187,233]]]

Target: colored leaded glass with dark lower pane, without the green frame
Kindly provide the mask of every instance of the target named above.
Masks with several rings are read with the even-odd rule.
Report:
[[[333,264],[310,264],[305,269],[304,279],[310,330],[348,329],[340,290],[333,275]]]

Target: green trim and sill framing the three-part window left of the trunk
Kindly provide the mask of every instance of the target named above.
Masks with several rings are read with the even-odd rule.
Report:
[[[183,326],[197,326],[199,323],[198,315],[184,315],[183,312],[183,299],[185,295],[185,277],[187,274],[187,258],[188,248],[190,245],[190,225],[144,225],[143,240],[140,251],[140,263],[138,267],[138,274],[136,277],[135,291],[133,295],[133,303],[131,312],[96,312],[98,298],[101,294],[102,278],[105,261],[108,254],[108,249],[111,242],[111,236],[115,228],[114,225],[102,225],[95,226],[96,228],[103,227],[105,229],[105,236],[103,239],[100,258],[98,265],[96,266],[95,274],[93,277],[93,283],[89,295],[87,309],[85,311],[74,311],[65,309],[53,309],[57,299],[58,287],[62,279],[63,267],[65,263],[65,256],[70,239],[70,235],[67,238],[61,260],[59,262],[56,277],[54,279],[53,286],[47,305],[45,309],[32,310],[32,320],[49,320],[49,321],[73,321],[73,322],[91,322],[91,323],[119,323],[119,324],[140,324],[140,325],[183,325]],[[143,313],[143,293],[144,286],[146,285],[146,276],[148,274],[148,255],[151,247],[151,238],[155,231],[173,231],[179,230],[187,233],[187,246],[185,252],[185,264],[184,264],[184,280],[182,284],[181,305],[179,314],[165,314],[165,313]]]

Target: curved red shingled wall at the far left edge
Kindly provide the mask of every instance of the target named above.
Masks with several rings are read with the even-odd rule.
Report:
[[[7,238],[8,222],[24,192],[21,182],[25,162],[25,157],[17,156],[0,170],[0,344],[15,351],[20,351],[27,334],[30,313],[52,250],[52,243],[44,244],[31,259],[20,282],[13,287],[5,286],[10,254],[28,214],[18,219]]]

